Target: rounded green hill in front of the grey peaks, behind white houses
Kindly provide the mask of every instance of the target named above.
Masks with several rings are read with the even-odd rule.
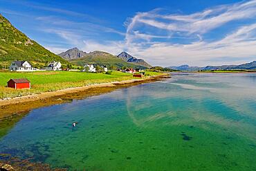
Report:
[[[125,62],[115,55],[111,55],[110,53],[102,52],[102,51],[93,51],[91,53],[87,53],[84,57],[69,60],[72,64],[77,64],[79,66],[84,66],[84,64],[104,64],[108,67],[116,66],[117,68],[122,68],[125,66],[127,68],[140,68],[146,69],[145,66],[138,66],[135,64],[131,64],[129,62]]]

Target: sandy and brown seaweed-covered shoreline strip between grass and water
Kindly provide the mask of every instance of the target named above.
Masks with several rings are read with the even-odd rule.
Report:
[[[124,80],[120,82],[92,84],[84,87],[61,89],[57,91],[0,100],[0,121],[8,116],[28,113],[31,109],[62,104],[64,102],[100,95],[115,89],[154,82],[164,78],[170,78],[170,74],[154,75],[148,78]]]

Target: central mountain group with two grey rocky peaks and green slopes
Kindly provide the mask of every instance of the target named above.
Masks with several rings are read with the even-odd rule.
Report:
[[[72,64],[83,66],[86,63],[92,64],[105,64],[107,66],[116,66],[118,68],[122,66],[146,69],[152,66],[145,62],[145,60],[138,59],[129,55],[126,52],[122,52],[119,55],[112,55],[103,51],[93,51],[86,53],[80,51],[78,48],[71,48],[65,52],[59,54],[65,60],[68,60]]]

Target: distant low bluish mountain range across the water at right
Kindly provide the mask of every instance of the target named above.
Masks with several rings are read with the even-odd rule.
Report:
[[[169,66],[169,69],[176,69],[179,71],[200,71],[200,70],[235,70],[235,69],[256,69],[256,61],[239,64],[239,65],[221,65],[221,66],[188,66],[188,64],[181,66]]]

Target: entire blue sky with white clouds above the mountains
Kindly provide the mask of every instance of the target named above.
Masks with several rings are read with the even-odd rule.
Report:
[[[0,13],[56,54],[127,51],[154,66],[256,60],[256,0],[0,0]]]

